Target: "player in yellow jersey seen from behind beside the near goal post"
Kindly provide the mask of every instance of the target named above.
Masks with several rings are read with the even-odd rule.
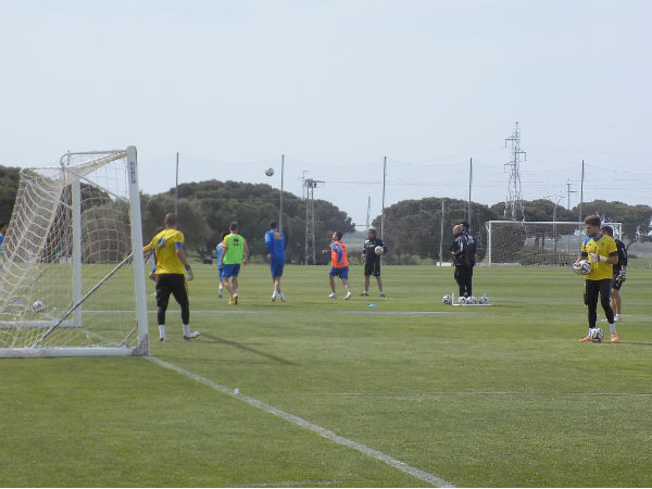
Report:
[[[181,323],[184,325],[184,339],[197,338],[199,331],[190,330],[190,304],[188,301],[188,287],[184,271],[188,274],[188,280],[192,280],[192,268],[186,259],[184,251],[184,234],[177,230],[177,220],[174,214],[166,214],[163,221],[165,229],[156,234],[142,248],[142,251],[155,250],[156,252],[156,319],[159,322],[159,339],[166,341],[165,335],[165,311],[170,301],[170,294],[181,308]]]

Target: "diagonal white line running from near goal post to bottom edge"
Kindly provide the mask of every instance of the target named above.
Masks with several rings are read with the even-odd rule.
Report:
[[[236,393],[234,391],[234,389],[229,389],[228,387],[221,386],[220,384],[216,384],[212,380],[209,380],[204,377],[193,374],[192,372],[189,372],[177,365],[173,365],[172,363],[165,362],[164,360],[156,359],[155,356],[145,356],[145,359],[147,359],[151,362],[154,362],[155,364],[161,365],[164,368],[168,368],[178,374],[185,375],[186,377],[197,380],[198,383],[204,384],[215,390],[218,390],[222,393],[230,396],[231,398],[236,398],[236,399],[238,399],[242,402],[246,402],[254,408],[258,408],[266,413],[273,414],[274,416],[278,416],[289,423],[300,426],[301,428],[308,429],[309,431],[316,432],[317,435],[319,435],[330,441],[335,441],[338,444],[342,444],[342,446],[351,448],[353,450],[358,450],[363,455],[366,455],[372,459],[376,459],[380,462],[384,462],[391,467],[398,468],[399,471],[404,472],[405,474],[409,474],[417,479],[421,479],[428,484],[431,484],[432,486],[455,487],[453,484],[448,482],[448,481],[443,480],[442,478],[437,477],[436,475],[432,475],[430,473],[422,471],[421,468],[416,468],[411,465],[408,465],[405,462],[402,462],[398,459],[386,455],[385,453],[374,450],[373,448],[369,448],[365,444],[358,443],[356,441],[349,440],[348,438],[344,438],[344,437],[340,437],[339,435],[336,435],[335,432],[333,432],[326,428],[322,428],[321,426],[310,423],[299,416],[294,416],[293,414],[286,413],[285,411],[276,409],[269,404],[265,404],[262,401],[250,398],[249,396],[244,396],[242,393]]]

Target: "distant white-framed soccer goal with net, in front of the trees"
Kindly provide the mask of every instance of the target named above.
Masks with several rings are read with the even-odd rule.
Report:
[[[622,236],[622,223],[604,223]],[[488,265],[570,265],[586,239],[584,223],[487,222]]]

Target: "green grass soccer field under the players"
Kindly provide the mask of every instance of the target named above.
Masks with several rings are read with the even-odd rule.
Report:
[[[250,398],[455,486],[652,486],[648,262],[628,268],[617,344],[577,341],[567,268],[476,268],[490,308],[442,304],[446,267],[387,266],[381,299],[359,296],[355,266],[343,301],[327,267],[288,266],[288,301],[269,303],[268,268],[251,265],[237,306],[214,266],[193,268],[201,337],[181,339],[173,304],[159,343],[149,296],[150,350],[214,386],[143,358],[0,360],[1,486],[431,485]]]

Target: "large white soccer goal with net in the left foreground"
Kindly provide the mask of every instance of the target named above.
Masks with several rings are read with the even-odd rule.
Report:
[[[148,354],[136,148],[21,171],[0,261],[0,358]]]

